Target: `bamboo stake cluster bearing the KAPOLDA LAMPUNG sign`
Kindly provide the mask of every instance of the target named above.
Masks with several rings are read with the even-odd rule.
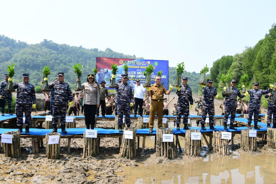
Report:
[[[99,153],[98,138],[85,137],[83,133],[83,158],[88,156],[96,156]]]

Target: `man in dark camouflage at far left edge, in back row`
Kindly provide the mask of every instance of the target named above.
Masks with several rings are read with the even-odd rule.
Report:
[[[8,84],[8,79],[9,76],[8,74],[5,74],[5,80],[3,80],[0,83],[0,97],[2,97],[4,99],[4,105],[1,109],[2,112],[2,116],[4,115],[4,110],[5,110],[5,106],[6,106],[6,100],[8,100],[8,110],[9,110],[9,115],[13,115],[12,113],[12,93],[11,92],[5,92],[4,90],[6,89],[6,86]]]

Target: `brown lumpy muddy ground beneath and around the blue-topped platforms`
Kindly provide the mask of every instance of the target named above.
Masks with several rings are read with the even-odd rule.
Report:
[[[174,95],[170,95],[172,98]],[[198,99],[199,96],[194,95]],[[170,105],[170,113],[173,104],[176,103],[175,98]],[[221,100],[215,100],[216,114],[221,114],[219,105]],[[193,110],[191,115],[196,115]],[[170,122],[170,126],[173,122]],[[136,123],[133,123],[135,125]],[[45,126],[45,125],[44,125]],[[192,126],[195,126],[195,121],[192,121]],[[78,121],[77,127],[84,127],[84,121]],[[114,122],[102,121],[98,122],[97,127],[113,128]],[[234,140],[235,149],[239,154],[276,155],[275,151],[266,146],[266,141],[261,141],[262,138],[257,138],[257,152],[244,152],[240,149],[240,136],[236,135]],[[142,140],[142,139],[141,139]],[[141,141],[140,140],[140,141]],[[45,146],[45,139],[43,140]],[[153,143],[152,143],[153,142]],[[204,158],[184,156],[183,153],[177,153],[177,157],[168,160],[163,157],[156,157],[154,149],[154,139],[150,137],[146,141],[145,154],[141,155],[141,148],[137,150],[136,158],[128,160],[119,156],[119,141],[118,138],[102,138],[100,149],[97,156],[82,158],[83,156],[83,140],[71,140],[71,153],[67,153],[67,139],[61,140],[61,151],[59,160],[47,159],[45,148],[40,148],[40,153],[32,153],[31,139],[21,139],[21,156],[18,159],[6,158],[3,155],[3,150],[0,153],[0,182],[1,183],[123,183],[125,178],[124,170],[121,166],[136,167],[141,162],[149,162],[152,164],[162,163],[178,163],[187,164],[187,162],[198,161]],[[231,144],[231,143],[230,143]],[[140,145],[141,142],[140,142]],[[183,147],[183,144],[181,144]],[[232,147],[230,146],[232,149]],[[221,157],[208,151],[207,147],[202,147],[202,152],[213,154],[215,157]],[[205,156],[206,156],[205,154]],[[203,154],[204,155],[204,154]]]

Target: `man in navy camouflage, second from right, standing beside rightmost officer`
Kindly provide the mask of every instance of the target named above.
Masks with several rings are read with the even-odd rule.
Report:
[[[262,90],[262,89],[259,89],[259,83],[254,82],[253,88],[254,89],[247,90],[247,92],[244,94],[245,96],[248,94],[250,95],[247,123],[248,123],[248,129],[252,129],[251,122],[252,122],[252,116],[254,113],[254,129],[260,130],[260,128],[258,127],[258,119],[259,119],[260,106],[261,106],[261,97],[262,95],[270,93],[270,89],[273,89],[273,85],[270,86],[270,88],[268,88],[267,90]]]

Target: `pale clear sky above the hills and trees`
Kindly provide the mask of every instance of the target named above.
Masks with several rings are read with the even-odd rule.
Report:
[[[276,23],[276,1],[1,1],[0,34],[145,59],[199,72],[253,47]]]

